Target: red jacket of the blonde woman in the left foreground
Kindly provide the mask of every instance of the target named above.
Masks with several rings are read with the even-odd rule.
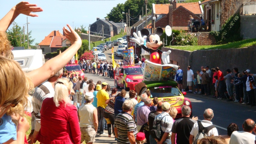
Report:
[[[41,129],[36,139],[44,144],[80,144],[81,132],[76,107],[72,104],[55,106],[53,98],[46,98],[40,110]]]

